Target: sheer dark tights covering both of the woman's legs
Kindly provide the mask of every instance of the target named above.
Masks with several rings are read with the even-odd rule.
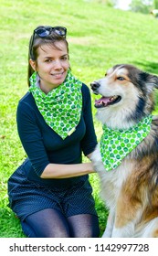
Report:
[[[97,238],[100,234],[97,216],[79,214],[66,218],[53,208],[31,214],[21,224],[29,238]]]

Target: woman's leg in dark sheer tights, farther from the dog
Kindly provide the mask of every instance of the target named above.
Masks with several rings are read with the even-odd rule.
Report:
[[[62,213],[46,208],[29,215],[22,222],[24,233],[29,238],[68,238],[68,221]]]

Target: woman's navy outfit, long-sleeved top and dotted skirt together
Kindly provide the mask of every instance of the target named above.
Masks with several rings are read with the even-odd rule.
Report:
[[[82,112],[76,131],[63,140],[45,122],[30,92],[19,101],[17,130],[27,158],[8,179],[9,206],[24,220],[44,208],[56,208],[66,217],[97,215],[89,176],[41,178],[49,163],[79,164],[82,152],[93,152],[97,138],[91,114],[90,90],[82,84]]]

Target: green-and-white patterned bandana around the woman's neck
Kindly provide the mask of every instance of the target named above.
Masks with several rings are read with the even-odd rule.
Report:
[[[45,122],[64,140],[75,132],[82,109],[82,82],[68,70],[66,80],[47,94],[38,85],[38,75],[30,77],[30,88]]]

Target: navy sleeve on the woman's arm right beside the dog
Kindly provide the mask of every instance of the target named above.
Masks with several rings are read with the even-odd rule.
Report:
[[[88,86],[83,84],[83,118],[86,125],[86,133],[81,141],[81,148],[84,155],[92,153],[97,145],[97,136],[94,130],[94,123],[91,110],[90,90]]]

